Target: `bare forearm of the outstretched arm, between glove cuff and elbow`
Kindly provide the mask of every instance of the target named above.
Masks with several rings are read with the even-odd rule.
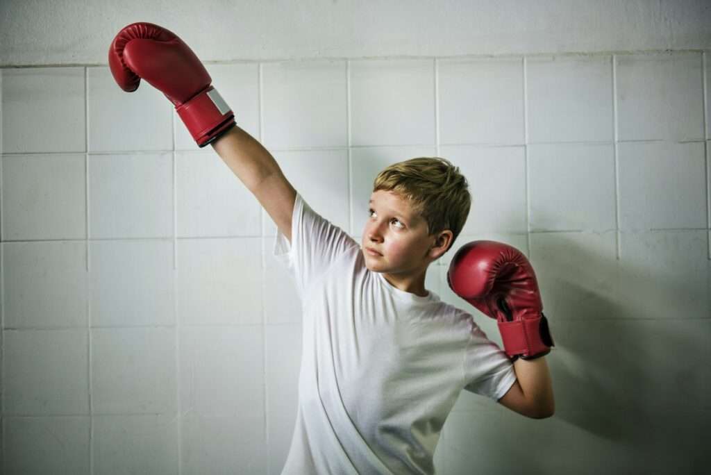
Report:
[[[215,140],[212,146],[250,191],[254,191],[264,178],[280,171],[272,154],[238,126]]]

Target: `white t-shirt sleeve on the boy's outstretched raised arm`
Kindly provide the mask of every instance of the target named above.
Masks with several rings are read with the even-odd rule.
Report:
[[[296,193],[292,211],[292,242],[277,228],[272,255],[289,269],[303,296],[311,282],[324,274],[331,263],[344,252],[359,247],[351,236],[316,213]]]

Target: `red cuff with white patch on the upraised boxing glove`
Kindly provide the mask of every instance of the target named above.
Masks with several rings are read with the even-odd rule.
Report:
[[[235,125],[235,114],[212,86],[176,107],[198,146],[203,147]]]

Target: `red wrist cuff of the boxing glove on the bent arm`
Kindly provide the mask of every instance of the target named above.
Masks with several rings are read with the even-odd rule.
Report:
[[[499,321],[498,331],[506,354],[513,359],[533,360],[550,353],[553,338],[544,314],[536,318]]]

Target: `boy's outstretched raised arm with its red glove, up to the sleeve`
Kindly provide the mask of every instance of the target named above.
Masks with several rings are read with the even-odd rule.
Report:
[[[176,106],[196,144],[212,144],[279,230],[292,240],[296,191],[267,149],[235,125],[235,114],[181,38],[154,23],[132,23],[119,31],[109,46],[109,68],[126,92],[137,90],[141,79],[163,92]]]

